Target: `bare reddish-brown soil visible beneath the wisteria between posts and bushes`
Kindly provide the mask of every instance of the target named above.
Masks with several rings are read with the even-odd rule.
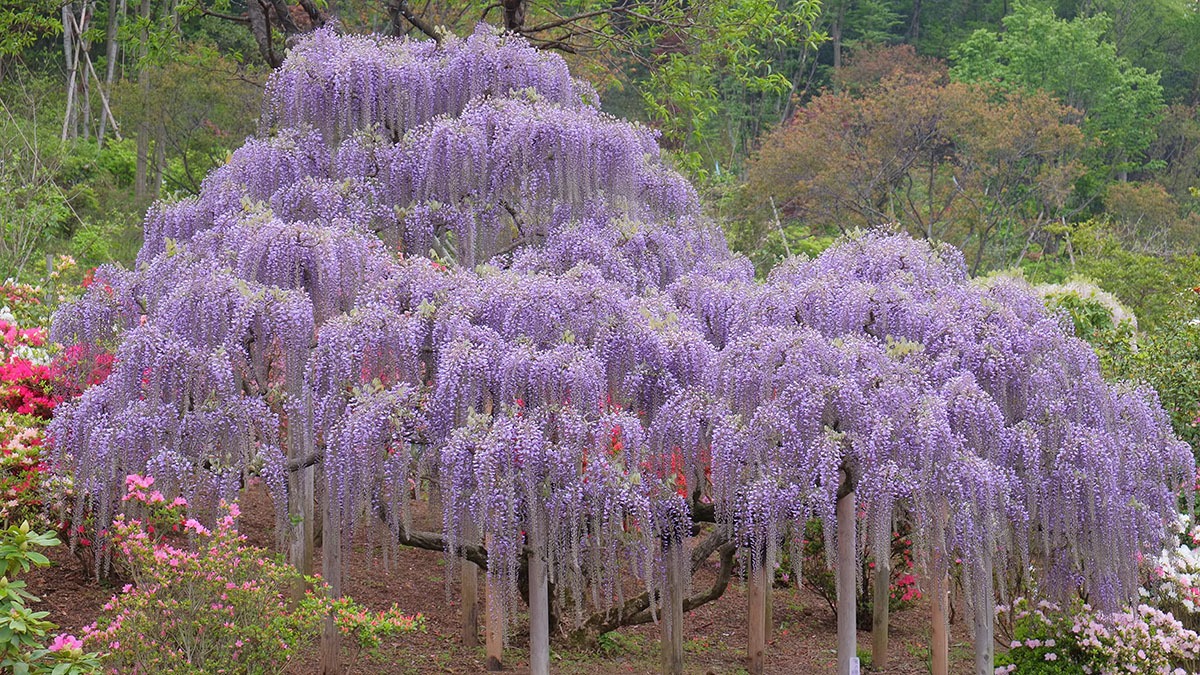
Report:
[[[274,510],[262,486],[248,490],[241,507],[241,531],[252,543],[272,546]],[[54,566],[32,573],[30,590],[42,598],[38,609],[49,610],[52,621],[66,632],[78,633],[79,628],[95,620],[116,586],[95,581],[64,546],[49,552]],[[319,569],[319,561],[317,565]],[[370,653],[355,653],[347,649],[350,673],[383,675],[485,670],[482,647],[466,647],[458,637],[457,583],[452,585],[451,599],[448,601],[444,572],[444,556],[436,551],[404,548],[385,568],[378,554],[370,556],[361,548],[355,548],[347,561],[346,592],[371,609],[386,609],[397,603],[406,611],[420,613],[427,627],[424,632],[401,635]],[[697,575],[695,586],[707,587],[714,572],[715,556],[710,568]],[[688,614],[684,628],[688,673],[745,671],[745,587],[733,581],[724,597]],[[775,632],[768,645],[767,673],[836,673],[836,625],[826,602],[806,589],[776,587],[773,607]],[[482,615],[482,610],[480,613]],[[928,607],[923,604],[893,614],[890,663],[883,673],[916,675],[929,671],[928,617]],[[972,646],[966,632],[961,622],[952,626],[950,671],[954,674],[971,671]],[[860,631],[858,640],[859,653],[868,658],[870,632]],[[528,671],[526,645],[526,635],[511,637],[505,651],[506,670]],[[554,644],[552,652],[551,669],[554,673],[658,673],[658,627],[624,628],[619,634],[610,634],[601,640],[596,650]],[[310,675],[317,671],[316,663],[316,650],[312,650],[305,659],[289,664],[288,673]]]

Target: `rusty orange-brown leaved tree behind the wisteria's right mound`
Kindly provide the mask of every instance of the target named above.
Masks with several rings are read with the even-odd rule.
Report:
[[[826,231],[899,222],[962,246],[972,270],[1007,267],[1066,215],[1085,149],[1069,108],[947,83],[905,48],[859,59],[839,79],[844,91],[817,96],[766,138],[750,165],[754,203]]]

